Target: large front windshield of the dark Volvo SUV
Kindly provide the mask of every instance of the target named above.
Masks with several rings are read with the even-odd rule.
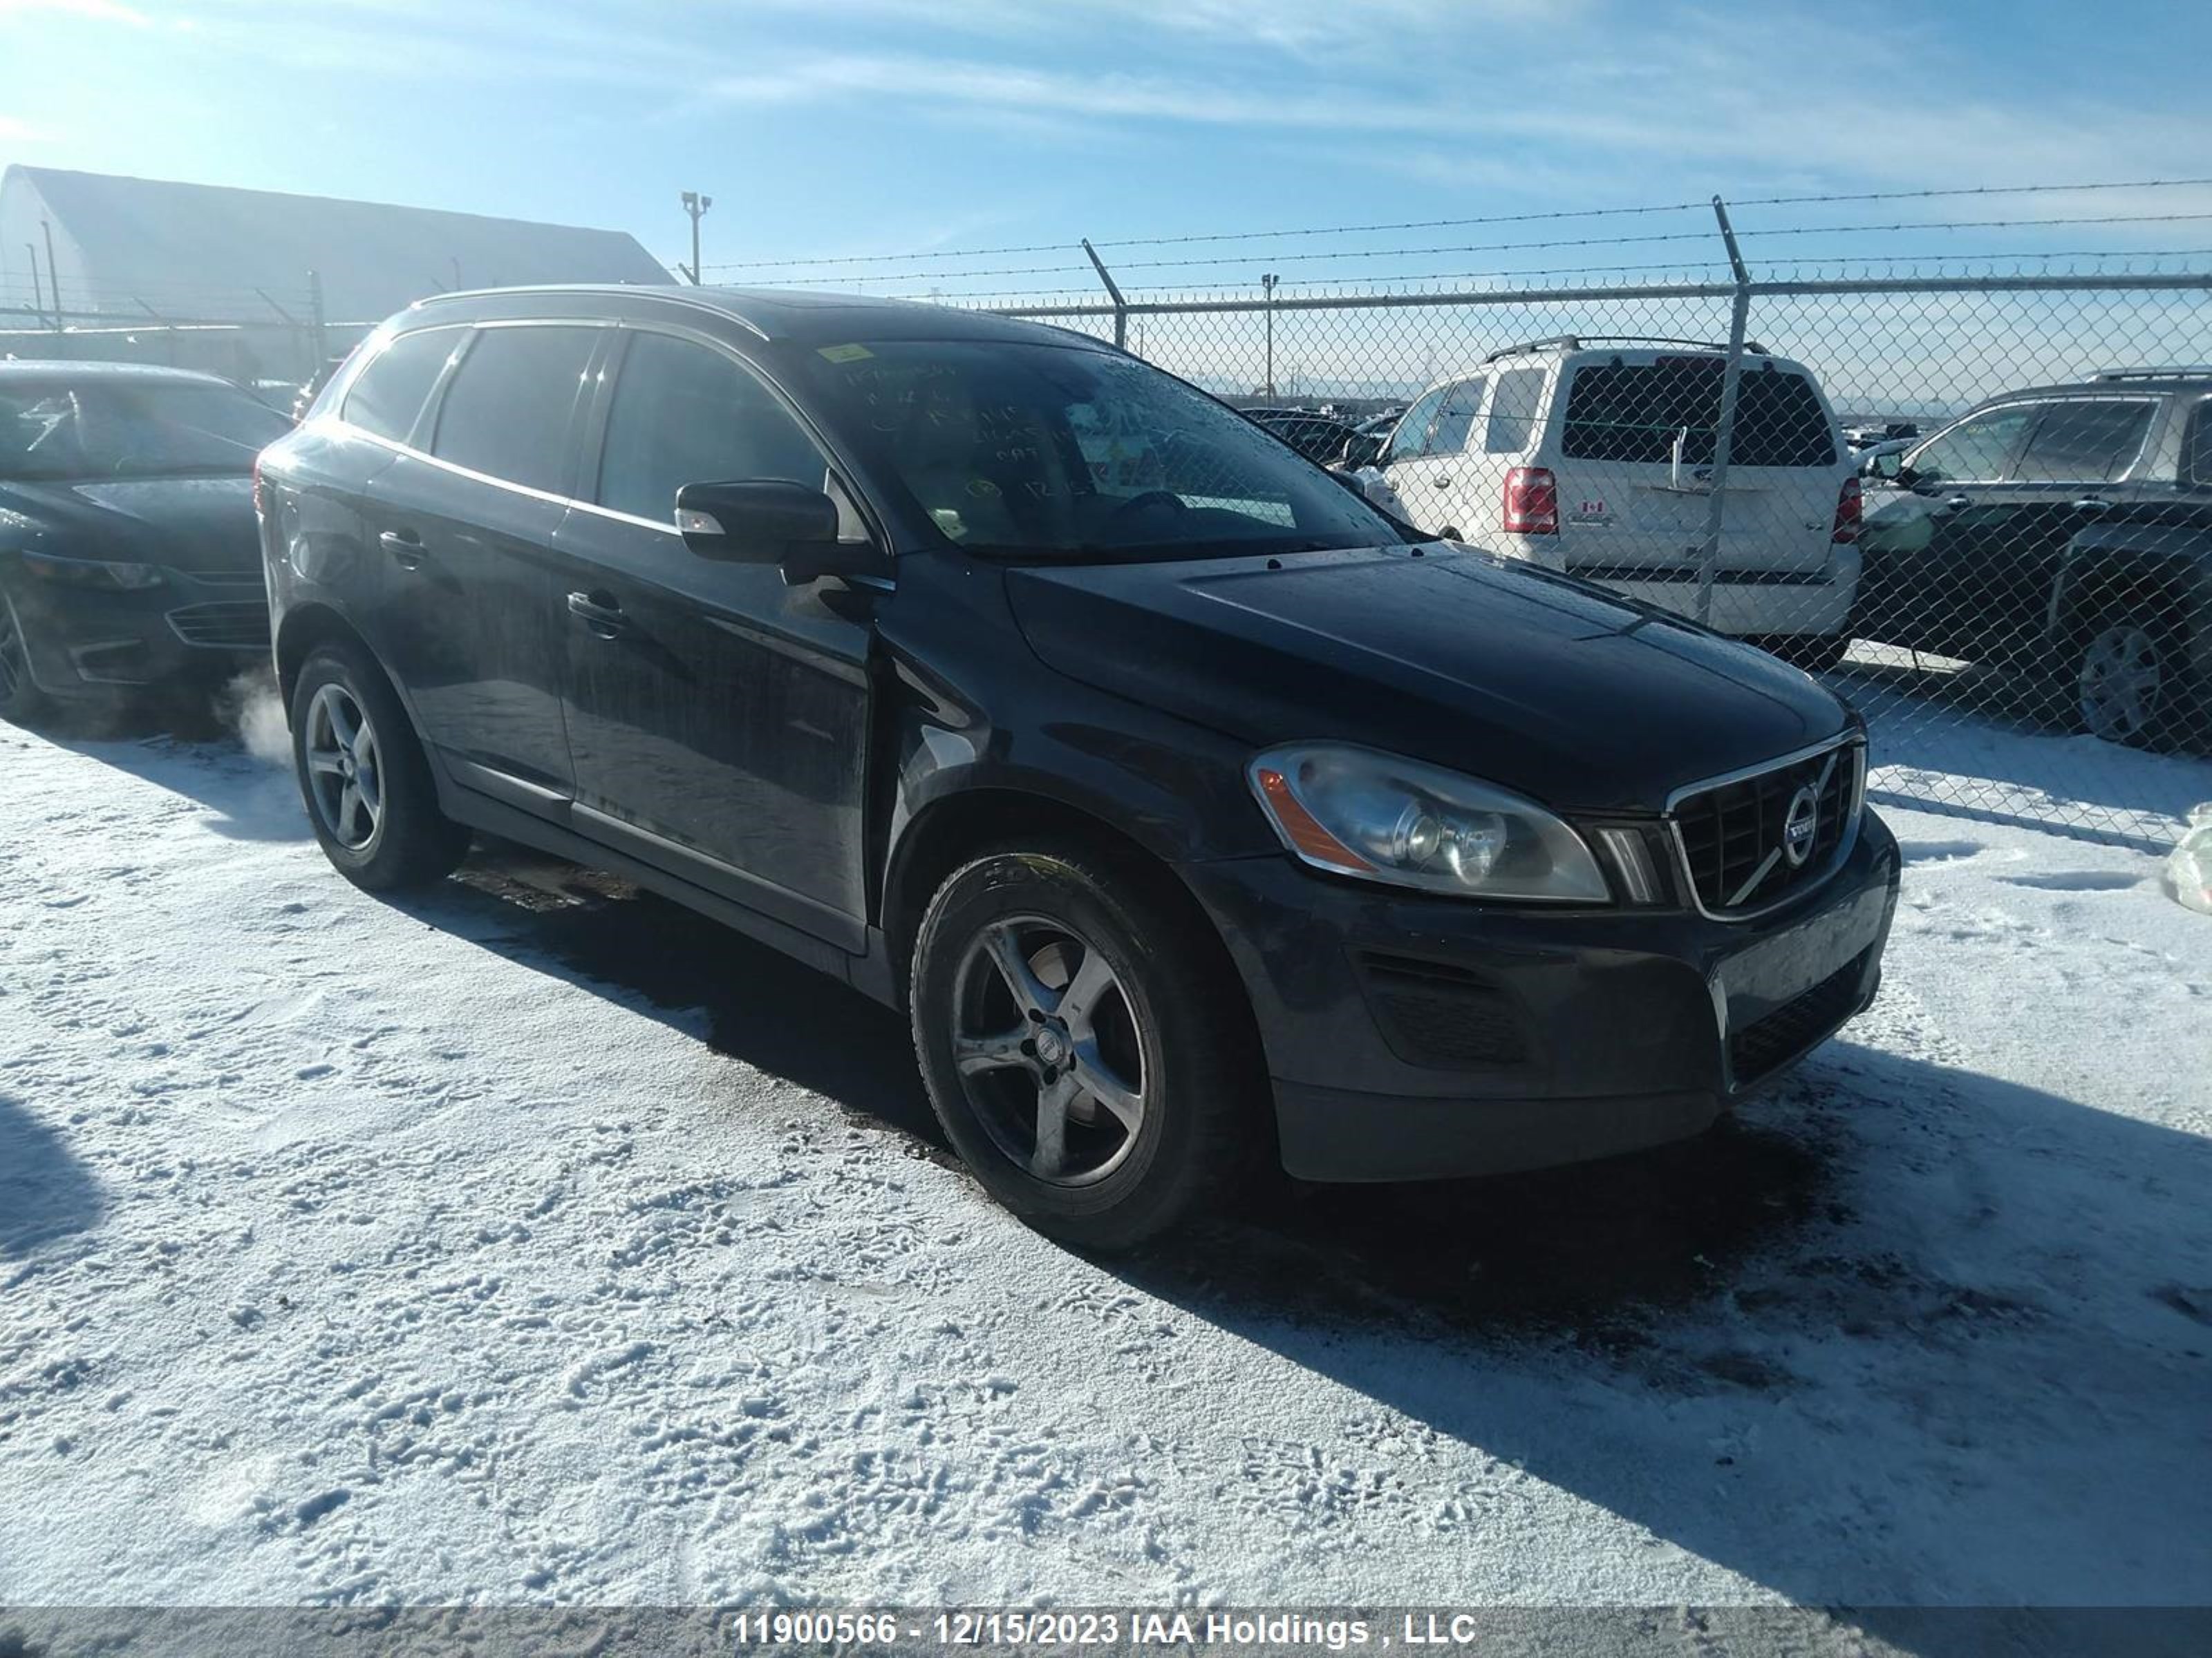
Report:
[[[799,356],[845,438],[978,553],[1159,559],[1405,539],[1250,420],[1133,358],[978,340]]]

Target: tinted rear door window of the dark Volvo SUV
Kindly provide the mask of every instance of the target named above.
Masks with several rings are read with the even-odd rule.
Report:
[[[431,453],[456,466],[564,493],[568,416],[599,332],[487,327],[453,371]]]

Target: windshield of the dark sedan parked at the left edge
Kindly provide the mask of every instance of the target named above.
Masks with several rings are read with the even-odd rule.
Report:
[[[0,478],[248,473],[290,429],[223,385],[0,385]]]

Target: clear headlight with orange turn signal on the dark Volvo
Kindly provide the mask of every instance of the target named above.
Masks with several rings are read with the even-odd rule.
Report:
[[[1608,898],[1582,836],[1489,783],[1323,743],[1267,749],[1245,776],[1283,844],[1314,869],[1462,898]]]

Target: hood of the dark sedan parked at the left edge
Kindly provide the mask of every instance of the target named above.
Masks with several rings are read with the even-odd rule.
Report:
[[[64,559],[131,559],[173,570],[254,570],[250,478],[0,482],[0,508],[31,520],[24,546]]]

